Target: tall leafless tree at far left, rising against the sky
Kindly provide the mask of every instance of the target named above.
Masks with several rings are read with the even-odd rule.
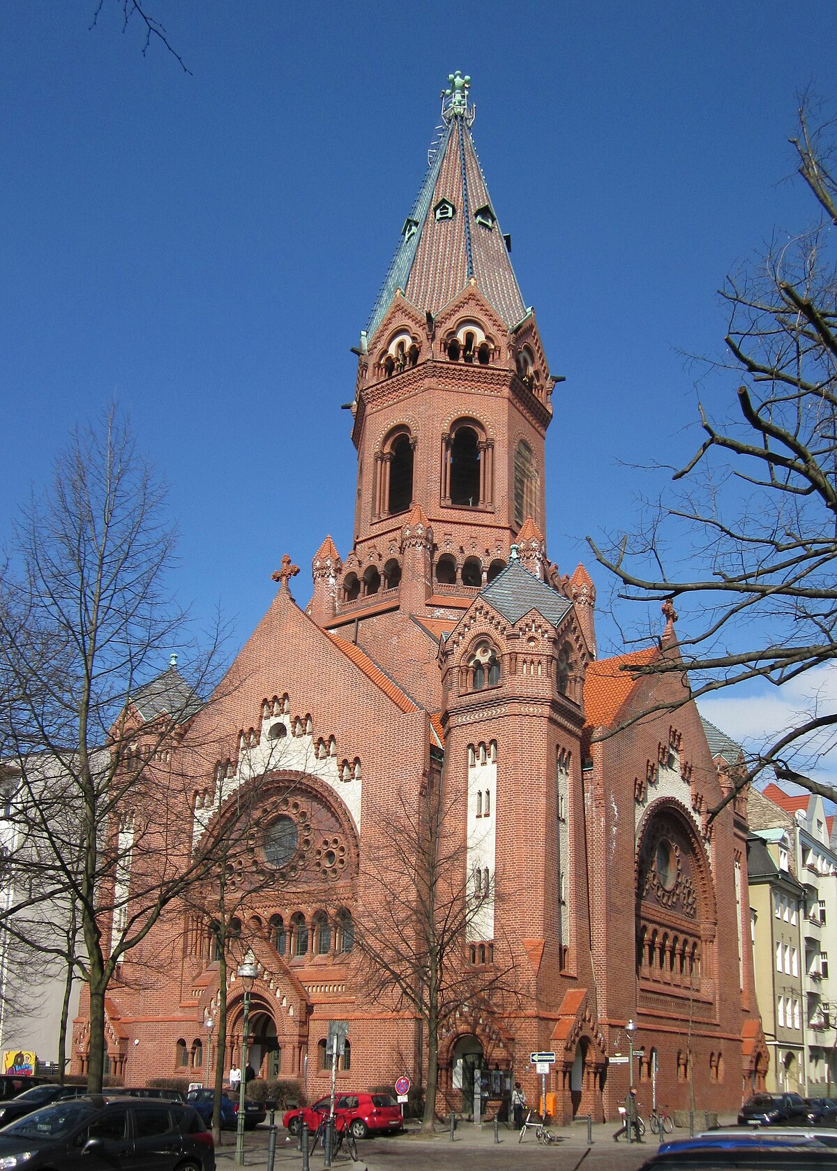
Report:
[[[70,899],[91,1090],[102,1087],[104,997],[123,956],[203,877],[217,845],[207,834],[191,848],[193,781],[177,749],[214,682],[219,636],[203,650],[190,641],[167,590],[173,549],[163,486],[110,411],[76,431],[52,488],[23,511],[0,583],[0,738],[37,843],[18,858],[30,881],[15,883],[4,919]],[[152,685],[172,648],[186,650],[190,683],[172,664]],[[214,756],[192,746],[192,775],[201,751]]]

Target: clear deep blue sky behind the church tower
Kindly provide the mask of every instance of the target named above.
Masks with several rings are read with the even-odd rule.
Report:
[[[697,437],[679,351],[720,351],[725,274],[807,221],[787,138],[798,90],[833,97],[836,5],[147,0],[191,75],[95,5],[2,7],[0,540],[116,396],[170,484],[180,596],[243,638],[288,552],[307,602],[325,533],[350,548],[349,347],[453,69],[567,377],[549,553],[571,571],[631,527],[649,485],[619,461]]]

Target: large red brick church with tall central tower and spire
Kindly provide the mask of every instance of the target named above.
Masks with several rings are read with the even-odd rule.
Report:
[[[467,78],[357,347],[351,438],[355,539],[325,537],[302,608],[286,557],[277,593],[233,672],[239,685],[191,717],[219,745],[193,776],[193,835],[246,790],[260,803],[252,867],[275,875],[238,930],[259,970],[251,1063],[328,1088],[329,1022],[348,1021],[338,1088],[420,1087],[426,1034],[369,995],[355,963],[364,855],[398,803],[444,788],[461,883],[483,905],[458,963],[516,973],[514,1001],[464,1001],[439,1045],[440,1110],[471,1112],[475,1070],[500,1069],[529,1101],[533,1052],[558,1121],[640,1102],[734,1109],[761,1083],[746,807],[713,759],[693,704],[602,732],[677,698],[679,677],[620,670],[677,655],[673,612],[647,650],[599,659],[583,566],[546,547],[546,437],[556,379],[509,259],[472,138]],[[348,487],[348,486],[347,486]],[[172,669],[173,670],[173,669]],[[158,687],[164,704],[165,687]],[[162,697],[162,698],[160,698]],[[153,697],[151,697],[153,698]],[[156,714],[149,696],[139,723]],[[236,797],[238,795],[238,797]],[[393,881],[396,881],[393,878]],[[479,885],[478,885],[479,884]],[[206,1081],[219,963],[205,924],[178,912],[121,965],[107,1001],[111,1070]],[[172,943],[172,931],[177,938]],[[167,934],[166,934],[167,933]],[[155,957],[166,956],[155,967]],[[238,1064],[241,981],[231,960],[226,1066]],[[74,1071],[87,1026],[74,1032]]]

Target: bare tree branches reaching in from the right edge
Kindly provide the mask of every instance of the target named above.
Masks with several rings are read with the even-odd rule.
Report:
[[[588,537],[619,597],[667,610],[677,600],[688,615],[679,653],[626,670],[685,669],[693,699],[754,680],[802,680],[802,710],[749,753],[739,788],[771,768],[831,800],[837,789],[807,774],[835,744],[837,711],[822,676],[807,672],[837,657],[836,132],[835,122],[814,128],[802,102],[790,142],[819,222],[776,237],[721,290],[727,357],[712,365],[743,375],[736,411],[715,423],[699,404],[705,439],[673,470],[681,487],[646,512],[639,533],[611,549]]]

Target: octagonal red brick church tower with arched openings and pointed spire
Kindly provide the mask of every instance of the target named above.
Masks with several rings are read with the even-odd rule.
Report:
[[[534,537],[523,563],[547,574],[556,381],[476,156],[469,78],[448,80],[427,173],[356,348],[354,547],[338,568],[318,552],[309,610],[338,634],[351,623],[354,641],[378,653],[392,648],[393,667],[425,659],[412,682],[431,706],[431,648],[405,622],[458,618],[519,539],[529,549]]]

